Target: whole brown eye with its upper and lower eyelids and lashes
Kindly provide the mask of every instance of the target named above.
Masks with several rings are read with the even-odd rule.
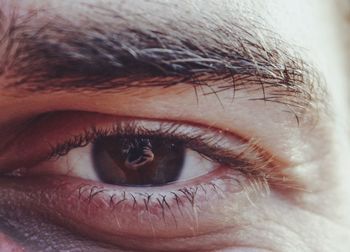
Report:
[[[16,151],[40,149],[30,165],[12,160],[3,183],[49,220],[124,249],[203,249],[201,237],[227,228],[222,216],[281,180],[282,163],[252,139],[191,122],[54,112],[24,133]]]

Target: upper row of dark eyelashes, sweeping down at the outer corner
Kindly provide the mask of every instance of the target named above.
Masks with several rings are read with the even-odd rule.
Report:
[[[197,151],[202,157],[210,161],[231,167],[248,176],[248,178],[258,179],[264,182],[268,173],[266,171],[267,167],[274,167],[271,161],[271,155],[264,153],[254,141],[240,140],[236,137],[238,139],[236,141],[240,142],[238,147],[242,149],[237,151],[232,148],[232,144],[231,146],[223,147],[225,145],[225,139],[230,136],[216,129],[200,129],[198,127],[165,122],[158,123],[159,127],[157,129],[149,129],[141,126],[142,124],[142,121],[132,122],[127,120],[115,122],[109,128],[90,127],[85,129],[82,134],[72,136],[62,143],[51,146],[51,151],[47,159],[58,159],[66,156],[71,150],[93,144],[100,138],[109,136],[134,136],[159,137],[181,141],[185,143],[186,148]],[[185,131],[190,131],[191,134]]]

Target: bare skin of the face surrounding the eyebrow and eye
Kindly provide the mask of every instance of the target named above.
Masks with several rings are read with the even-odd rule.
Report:
[[[3,2],[3,6],[9,6],[8,2]],[[108,1],[84,2],[106,5]],[[328,104],[326,108],[317,103],[316,107],[320,109],[307,110],[302,123],[298,125],[295,117],[285,113],[282,105],[247,101],[245,97],[254,95],[254,92],[249,91],[237,92],[234,102],[231,91],[219,93],[220,104],[215,95],[206,96],[202,93],[199,93],[198,102],[193,89],[186,85],[168,89],[134,88],[128,92],[34,92],[30,95],[16,88],[0,88],[0,136],[7,139],[13,134],[13,129],[20,128],[31,118],[57,110],[93,112],[86,115],[86,121],[96,120],[100,125],[108,125],[111,118],[116,116],[189,122],[215,127],[248,139],[259,139],[259,145],[273,153],[274,158],[282,164],[284,174],[293,178],[293,186],[284,187],[283,183],[272,185],[270,193],[265,196],[259,192],[233,193],[225,201],[220,201],[219,210],[208,211],[212,223],[207,226],[201,226],[200,223],[199,229],[191,235],[186,228],[182,229],[179,221],[178,229],[174,226],[159,227],[162,232],[156,233],[153,238],[134,238],[120,235],[118,228],[108,224],[105,219],[89,222],[86,224],[88,228],[81,221],[78,225],[68,225],[62,220],[52,221],[52,216],[47,220],[39,209],[41,205],[28,200],[30,193],[40,195],[35,194],[39,189],[34,181],[27,180],[21,184],[24,189],[18,190],[16,179],[1,178],[0,209],[4,209],[0,211],[0,224],[3,222],[0,225],[1,251],[49,251],[50,246],[55,251],[349,251],[349,79],[346,50],[342,43],[344,38],[338,28],[343,22],[339,19],[338,6],[334,1],[320,3],[319,0],[268,0],[263,3],[256,0],[231,0],[226,5],[198,0],[183,6],[181,2],[172,1],[172,4],[178,3],[181,6],[179,8],[190,9],[194,13],[198,9],[207,11],[207,15],[214,15],[217,11],[229,16],[232,14],[230,11],[234,11],[237,16],[249,16],[263,22],[268,30],[274,31],[283,41],[292,45],[292,50],[319,72],[322,79],[320,86],[326,90],[326,95],[322,96],[319,103]],[[71,4],[70,1],[28,0],[17,1],[16,5],[19,10],[50,8],[68,19],[74,18],[78,10],[91,11],[91,18],[94,17],[94,10],[79,7],[79,3]],[[136,7],[132,3],[125,4],[126,9],[136,8],[152,13],[149,18],[171,21],[171,10],[166,5],[155,3],[152,6],[161,11],[151,12],[150,5],[143,1]],[[117,4],[112,3],[109,8],[117,8]],[[79,23],[79,18],[76,22]],[[264,31],[260,34],[262,38],[267,36]],[[4,76],[0,77],[0,83],[7,81]],[[316,86],[312,92],[316,93],[320,88]],[[63,118],[69,125],[63,127],[62,132],[78,132],[84,126],[84,119],[74,121],[68,116]],[[62,132],[51,135],[47,132],[49,129],[46,128],[33,130],[31,136],[27,133],[23,142],[38,143],[39,146],[39,137],[64,138]],[[48,134],[47,138],[45,134]],[[16,146],[10,146],[9,151],[0,152],[3,162],[0,171],[16,167],[10,162],[16,160]],[[32,150],[36,151],[35,144]],[[49,170],[48,174],[53,176],[55,172],[50,169],[57,168],[61,169],[58,173],[63,174],[65,167],[62,163],[37,165],[36,173]],[[74,174],[80,175],[79,172]],[[53,190],[50,192],[54,197],[59,194]],[[17,209],[14,214],[10,212],[10,206]],[[55,207],[61,209],[61,206]],[[5,225],[6,218],[12,221],[12,228]],[[55,218],[59,219],[57,216]],[[129,231],[135,234],[137,229],[141,230],[141,225],[136,231],[132,228]],[[220,231],[215,233],[215,230]],[[26,232],[32,239],[23,238]],[[177,232],[190,238],[179,238],[181,236]],[[40,245],[40,241],[44,245]],[[132,242],[137,245],[130,245]]]

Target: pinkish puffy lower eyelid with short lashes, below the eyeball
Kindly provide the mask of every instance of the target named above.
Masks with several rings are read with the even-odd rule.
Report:
[[[43,214],[60,219],[64,225],[69,220],[69,225],[79,232],[93,229],[94,233],[118,237],[199,235],[220,227],[220,212],[231,204],[229,198],[243,195],[247,201],[242,186],[245,182],[240,181],[243,176],[228,174],[227,170],[191,181],[191,186],[174,184],[159,188],[106,186],[64,176],[38,177],[37,183],[32,181],[35,178],[19,179],[22,180],[17,181],[21,183],[19,190],[27,188],[32,203],[39,204],[36,207]],[[236,207],[240,207],[237,203]]]

